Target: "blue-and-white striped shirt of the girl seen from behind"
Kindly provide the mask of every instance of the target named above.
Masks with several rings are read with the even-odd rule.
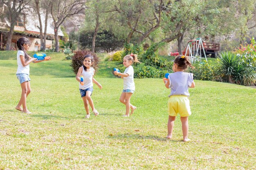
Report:
[[[169,74],[168,79],[170,81],[169,87],[171,88],[171,94],[168,97],[172,95],[189,96],[189,87],[194,81],[192,73],[177,71]]]

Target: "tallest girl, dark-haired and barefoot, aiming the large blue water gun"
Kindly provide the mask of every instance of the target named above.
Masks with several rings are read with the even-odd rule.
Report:
[[[47,57],[44,60],[36,60],[36,58],[30,57],[27,54],[27,51],[29,49],[29,44],[30,44],[30,40],[25,37],[22,37],[17,41],[17,46],[19,50],[17,52],[18,69],[16,72],[16,76],[20,80],[20,86],[21,86],[22,92],[21,92],[20,101],[16,106],[16,109],[22,111],[23,113],[31,114],[31,112],[27,109],[27,96],[31,91],[30,82],[29,82],[30,81],[29,64],[31,62],[38,63],[38,62],[43,62],[45,60],[50,60],[51,57]]]

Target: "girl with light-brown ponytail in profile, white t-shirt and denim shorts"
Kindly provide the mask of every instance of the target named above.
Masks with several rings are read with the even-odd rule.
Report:
[[[136,54],[129,54],[124,56],[124,66],[126,67],[124,73],[119,73],[118,71],[114,71],[115,75],[121,76],[124,79],[124,89],[120,96],[119,101],[126,105],[126,114],[124,116],[128,117],[131,109],[130,115],[136,109],[135,106],[130,104],[130,98],[132,97],[132,93],[135,91],[135,84],[133,81],[133,67],[131,66],[133,62],[139,62]]]

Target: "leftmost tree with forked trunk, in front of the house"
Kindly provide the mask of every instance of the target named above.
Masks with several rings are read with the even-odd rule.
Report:
[[[8,11],[6,12],[6,17],[9,18],[10,30],[7,33],[7,43],[6,50],[10,50],[11,38],[14,31],[14,26],[16,25],[21,12],[28,7],[25,7],[31,0],[1,0],[3,4],[7,6]],[[23,18],[22,18],[23,19]]]

